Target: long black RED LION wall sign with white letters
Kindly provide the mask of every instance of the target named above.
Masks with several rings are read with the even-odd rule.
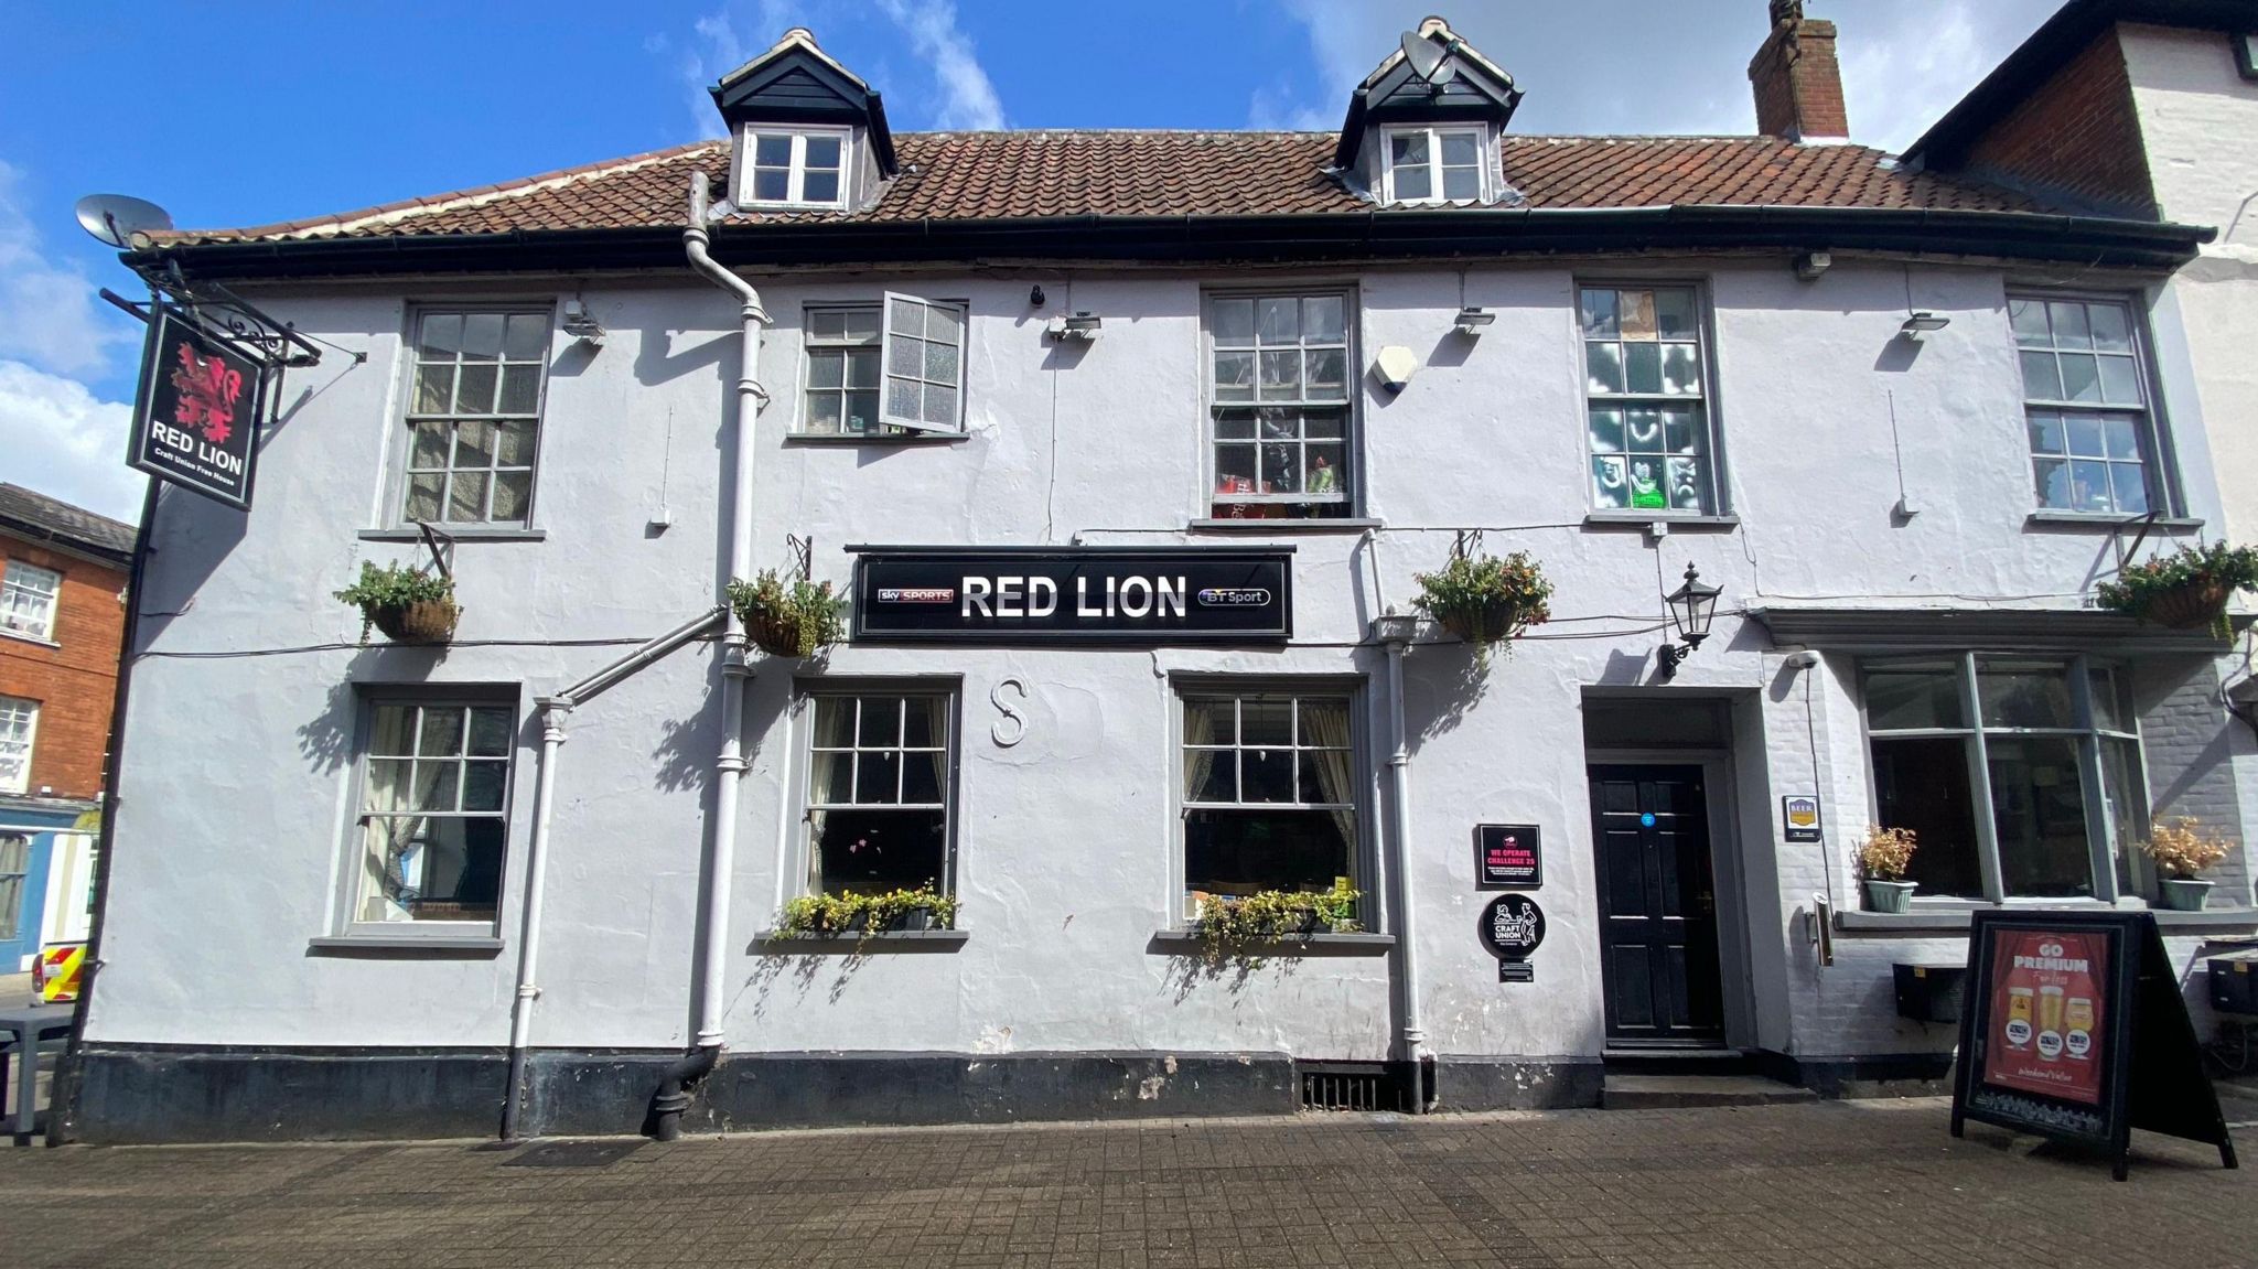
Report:
[[[856,546],[854,639],[1283,644],[1294,549]]]

